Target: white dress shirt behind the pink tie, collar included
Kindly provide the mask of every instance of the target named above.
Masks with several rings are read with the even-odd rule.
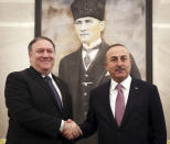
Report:
[[[120,84],[123,85],[123,92],[125,97],[125,108],[126,108],[128,96],[129,96],[129,90],[130,90],[130,84],[131,84],[130,75]],[[114,117],[115,117],[115,103],[116,103],[116,98],[117,98],[117,92],[118,92],[116,88],[117,85],[118,84],[111,79],[110,88],[109,88],[109,102],[110,102],[110,108],[111,108]]]

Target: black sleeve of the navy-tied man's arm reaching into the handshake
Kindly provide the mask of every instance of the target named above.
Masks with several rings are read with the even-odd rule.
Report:
[[[6,104],[10,119],[23,129],[56,137],[61,119],[41,112],[34,107],[24,76],[12,73],[6,82]]]

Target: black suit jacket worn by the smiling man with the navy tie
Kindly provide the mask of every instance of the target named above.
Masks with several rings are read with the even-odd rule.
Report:
[[[62,98],[60,110],[54,95],[41,74],[32,67],[11,73],[6,84],[9,112],[7,144],[68,144],[60,133],[61,120],[72,118],[67,86],[53,76]]]

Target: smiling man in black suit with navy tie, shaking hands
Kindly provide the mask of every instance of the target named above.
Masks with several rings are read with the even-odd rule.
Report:
[[[29,44],[30,68],[9,74],[7,144],[70,144],[62,132],[73,129],[65,122],[72,118],[71,96],[65,82],[52,74],[54,55],[50,38],[35,37]]]

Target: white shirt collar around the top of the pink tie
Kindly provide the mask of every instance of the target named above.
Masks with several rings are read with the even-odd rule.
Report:
[[[131,84],[131,76],[129,75],[124,81],[120,82],[125,89],[130,89],[130,84]],[[118,82],[116,82],[114,79],[111,79],[110,82],[110,90],[116,89],[116,86]]]

